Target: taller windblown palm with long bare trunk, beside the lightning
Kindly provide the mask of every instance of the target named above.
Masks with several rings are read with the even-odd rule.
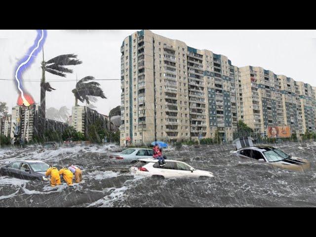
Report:
[[[73,70],[66,68],[65,66],[78,65],[82,62],[77,59],[75,54],[63,54],[54,57],[47,62],[44,61],[44,50],[43,50],[43,61],[41,62],[42,78],[40,82],[40,113],[42,118],[45,118],[45,97],[46,91],[55,90],[50,86],[48,82],[45,82],[45,71],[60,77],[65,78],[65,73],[73,73]]]

